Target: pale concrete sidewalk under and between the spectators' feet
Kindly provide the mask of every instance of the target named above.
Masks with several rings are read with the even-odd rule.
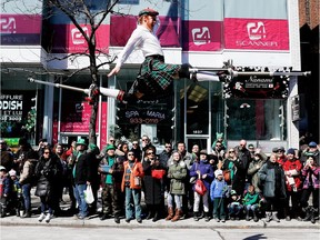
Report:
[[[33,190],[34,191],[34,190]],[[38,212],[37,209],[40,206],[39,198],[34,197],[33,191],[31,191],[31,202],[32,202],[32,212]],[[68,199],[67,196],[63,196],[64,201]],[[98,207],[99,207],[98,202]],[[68,200],[66,204],[62,204],[62,209],[67,209],[69,207]],[[152,222],[152,220],[142,220],[142,223],[138,223],[134,219],[127,223],[124,219],[121,219],[121,222],[117,224],[111,219],[106,219],[101,221],[99,216],[90,216],[84,220],[74,219],[73,217],[57,217],[51,219],[50,223],[39,222],[38,221],[39,213],[32,213],[31,218],[21,219],[16,216],[4,217],[0,219],[0,226],[52,226],[52,227],[70,227],[70,228],[157,228],[157,229],[177,229],[177,228],[188,228],[188,229],[201,229],[201,228],[233,228],[233,229],[248,229],[248,228],[303,228],[303,229],[320,229],[319,220],[316,224],[312,224],[310,221],[303,222],[298,220],[286,221],[281,219],[280,222],[266,222],[264,219],[259,220],[258,222],[238,220],[231,221],[227,220],[223,222],[216,222],[211,219],[209,222],[206,222],[204,219],[200,219],[199,221],[194,221],[193,218],[188,218],[184,220],[179,220],[177,222],[166,221],[164,219],[160,219],[157,222]]]

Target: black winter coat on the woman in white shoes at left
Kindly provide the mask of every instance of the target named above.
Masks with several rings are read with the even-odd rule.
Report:
[[[36,167],[36,176],[38,178],[34,194],[38,197],[47,197],[52,199],[57,197],[58,180],[61,177],[62,168],[57,156],[49,159],[40,158]],[[58,198],[58,197],[57,197]]]

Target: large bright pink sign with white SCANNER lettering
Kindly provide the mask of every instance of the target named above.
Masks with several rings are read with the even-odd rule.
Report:
[[[226,49],[289,50],[288,20],[224,19]]]

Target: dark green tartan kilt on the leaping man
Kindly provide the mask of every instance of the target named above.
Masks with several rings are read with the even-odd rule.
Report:
[[[147,57],[129,93],[140,91],[144,94],[143,99],[167,97],[180,69],[180,64],[167,64],[162,59]]]

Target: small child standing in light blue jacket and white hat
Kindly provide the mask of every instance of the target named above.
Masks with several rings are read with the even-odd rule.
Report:
[[[216,179],[210,186],[210,198],[213,201],[213,219],[217,222],[226,222],[224,199],[228,191],[227,182],[223,180],[222,170],[214,171]]]

